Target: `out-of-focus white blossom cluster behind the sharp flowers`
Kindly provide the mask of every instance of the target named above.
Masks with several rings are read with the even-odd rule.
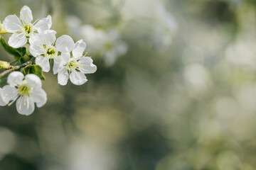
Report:
[[[118,57],[125,55],[128,51],[128,45],[121,40],[121,35],[117,29],[112,28],[106,31],[92,25],[81,26],[80,19],[76,16],[69,16],[67,23],[69,23],[70,33],[85,38],[85,42],[90,45],[90,50],[100,51],[107,67],[112,67],[117,62]]]

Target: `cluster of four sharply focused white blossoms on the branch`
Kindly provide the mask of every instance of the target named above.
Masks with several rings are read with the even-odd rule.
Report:
[[[58,74],[58,84],[65,85],[68,79],[75,85],[85,84],[85,74],[97,70],[92,64],[91,57],[85,57],[86,44],[83,40],[74,42],[69,35],[62,35],[56,39],[51,16],[33,22],[31,9],[21,8],[20,17],[6,16],[3,21],[7,33],[12,33],[9,45],[14,48],[29,44],[29,51],[36,57],[36,64],[43,72],[50,71],[50,60],[53,60],[53,74]],[[11,105],[16,101],[18,113],[30,115],[34,111],[34,103],[38,108],[46,101],[46,92],[42,89],[41,79],[36,74],[11,72],[7,78],[8,85],[0,89],[0,106]]]

